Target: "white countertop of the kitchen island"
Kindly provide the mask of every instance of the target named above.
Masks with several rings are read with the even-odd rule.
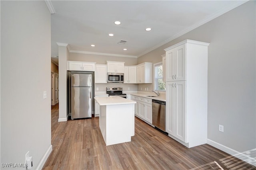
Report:
[[[104,105],[118,105],[118,104],[136,104],[133,100],[122,98],[120,96],[104,96],[94,97],[100,106]]]

